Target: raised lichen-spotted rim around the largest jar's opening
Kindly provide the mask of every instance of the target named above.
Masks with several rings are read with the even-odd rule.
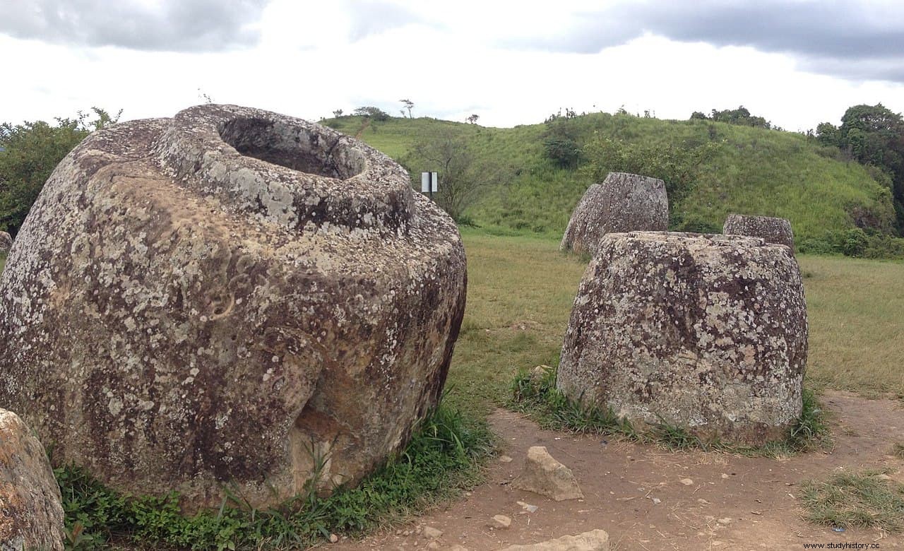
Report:
[[[230,137],[231,125],[240,123],[268,135]],[[311,162],[299,168],[243,154],[229,138],[270,140],[289,161]],[[153,153],[179,185],[225,195],[221,203],[231,210],[291,230],[405,233],[412,216],[410,176],[390,157],[332,128],[263,109],[184,109],[168,121]]]

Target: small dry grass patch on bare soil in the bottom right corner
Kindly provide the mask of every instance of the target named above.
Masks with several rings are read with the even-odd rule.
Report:
[[[804,518],[829,527],[904,528],[904,486],[880,471],[843,470],[802,485]]]

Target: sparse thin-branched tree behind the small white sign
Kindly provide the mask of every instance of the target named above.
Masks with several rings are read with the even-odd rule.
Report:
[[[438,172],[438,191],[434,200],[453,220],[460,220],[481,185],[486,171],[475,166],[474,153],[464,138],[450,136],[419,138],[402,159],[410,167],[412,181],[421,172]]]

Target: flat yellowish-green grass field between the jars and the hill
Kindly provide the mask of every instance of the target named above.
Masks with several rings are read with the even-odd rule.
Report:
[[[502,404],[519,368],[555,366],[586,264],[559,242],[462,232],[465,321],[450,398],[485,413]],[[800,256],[810,322],[807,384],[904,395],[904,262]]]

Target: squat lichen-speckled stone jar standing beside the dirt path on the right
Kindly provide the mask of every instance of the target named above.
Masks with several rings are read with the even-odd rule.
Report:
[[[760,443],[801,413],[806,337],[787,247],[610,233],[580,282],[556,385],[641,425]]]

